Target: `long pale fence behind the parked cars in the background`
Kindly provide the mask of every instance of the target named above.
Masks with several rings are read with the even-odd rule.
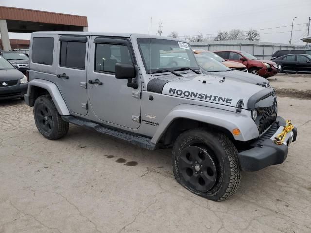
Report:
[[[260,59],[267,60],[269,60],[272,57],[272,54],[277,50],[298,50],[308,48],[305,45],[290,45],[248,40],[190,42],[190,45],[192,49],[209,50],[211,52],[220,50],[241,50]]]

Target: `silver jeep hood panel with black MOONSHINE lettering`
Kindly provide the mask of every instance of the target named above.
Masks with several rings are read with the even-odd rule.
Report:
[[[160,78],[161,79],[161,78]],[[236,107],[243,99],[247,108],[250,97],[268,88],[251,83],[223,79],[212,75],[199,75],[185,78],[175,78],[165,83],[162,93],[181,98],[211,102]],[[270,88],[269,88],[270,89]],[[273,90],[272,90],[273,91]]]

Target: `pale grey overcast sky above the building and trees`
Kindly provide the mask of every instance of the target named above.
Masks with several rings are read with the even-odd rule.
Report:
[[[303,44],[307,35],[311,0],[1,0],[0,5],[87,16],[89,31],[156,34],[159,21],[163,34],[179,36],[213,34],[219,30],[265,29],[294,25],[292,44]],[[298,31],[299,30],[299,31]],[[291,26],[259,30],[261,41],[288,43]],[[283,32],[283,33],[279,33]],[[10,33],[10,38],[30,34]]]

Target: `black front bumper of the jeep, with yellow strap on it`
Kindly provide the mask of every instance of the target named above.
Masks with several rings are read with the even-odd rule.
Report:
[[[277,145],[270,138],[274,136],[279,127],[285,126],[286,122],[282,117],[277,117],[276,122],[254,143],[253,148],[239,153],[239,162],[242,170],[258,171],[267,166],[281,164],[285,161],[288,153],[288,146],[297,138],[297,128],[287,134],[284,144]],[[285,144],[286,143],[286,144]]]

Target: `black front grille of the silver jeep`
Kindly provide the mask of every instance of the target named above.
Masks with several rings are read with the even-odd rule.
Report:
[[[277,108],[275,105],[272,105],[269,108],[261,109],[261,111],[262,112],[258,114],[256,119],[256,121],[258,120],[257,128],[260,135],[276,121]]]

